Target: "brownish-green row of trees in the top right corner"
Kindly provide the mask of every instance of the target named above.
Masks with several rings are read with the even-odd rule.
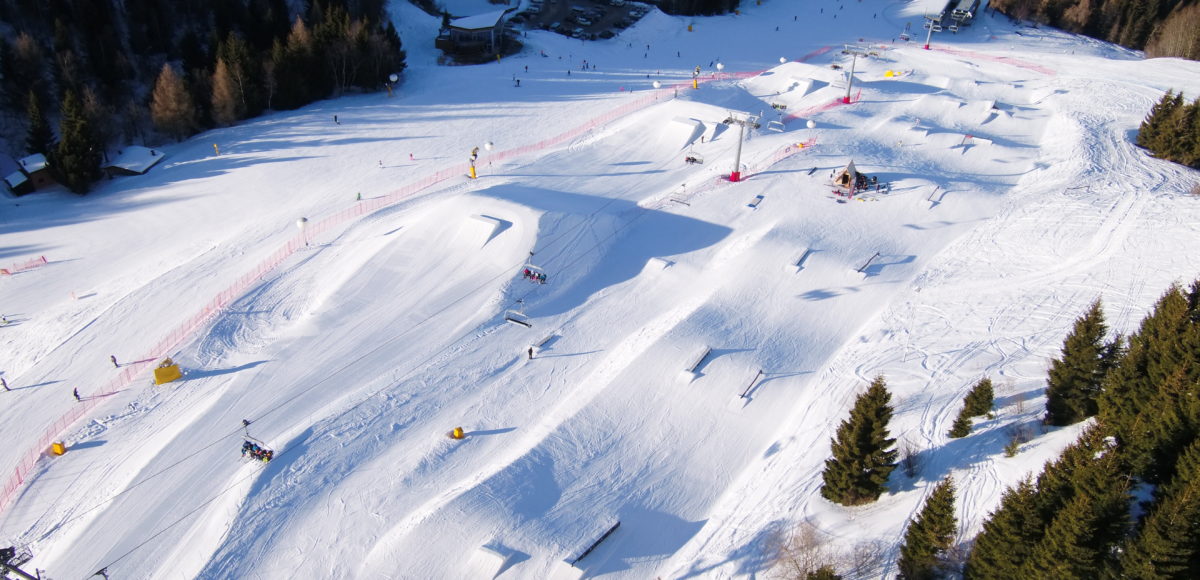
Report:
[[[991,0],[988,6],[1114,42],[1146,56],[1200,60],[1200,4],[1193,0]]]

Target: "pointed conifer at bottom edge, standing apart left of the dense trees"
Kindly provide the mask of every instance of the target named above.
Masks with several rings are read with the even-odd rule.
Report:
[[[917,520],[905,531],[896,564],[900,568],[899,578],[938,578],[938,556],[953,545],[958,525],[958,518],[954,516],[954,482],[947,477],[934,488]]]

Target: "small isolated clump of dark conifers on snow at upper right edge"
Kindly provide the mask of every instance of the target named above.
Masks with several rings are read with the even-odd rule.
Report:
[[[1166,91],[1138,128],[1138,145],[1156,157],[1200,169],[1200,97]]]

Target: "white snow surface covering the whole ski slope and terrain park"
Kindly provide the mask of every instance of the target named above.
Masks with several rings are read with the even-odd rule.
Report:
[[[1078,433],[1038,419],[1088,304],[1129,331],[1200,273],[1200,178],[1130,143],[1165,90],[1200,91],[1198,62],[986,16],[923,50],[893,42],[922,2],[766,0],[652,11],[610,41],[530,31],[502,62],[436,66],[438,19],[390,8],[410,64],[392,98],[164,144],[146,175],[83,198],[2,202],[2,265],[47,263],[0,277],[0,474],[85,405],[72,389],[102,395],[0,514],[28,569],[749,578],[809,521],[839,549],[884,545],[871,573],[890,574],[932,483],[954,476],[967,540]],[[876,55],[856,64],[858,101],[833,106],[829,65],[859,38]],[[738,184],[721,179],[731,110],[763,112]],[[851,160],[890,193],[835,196]],[[364,203],[379,209],[331,217]],[[523,279],[529,252],[548,283]],[[151,385],[164,357],[186,375]],[[829,440],[878,375],[922,468],[874,504],[830,504]],[[984,376],[995,418],[949,440]],[[240,456],[244,418],[270,464]],[[1004,458],[1014,429],[1033,438]]]

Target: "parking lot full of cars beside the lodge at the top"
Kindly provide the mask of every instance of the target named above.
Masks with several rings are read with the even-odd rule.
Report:
[[[510,22],[572,38],[612,38],[644,16],[646,10],[644,5],[628,0],[534,0]]]

